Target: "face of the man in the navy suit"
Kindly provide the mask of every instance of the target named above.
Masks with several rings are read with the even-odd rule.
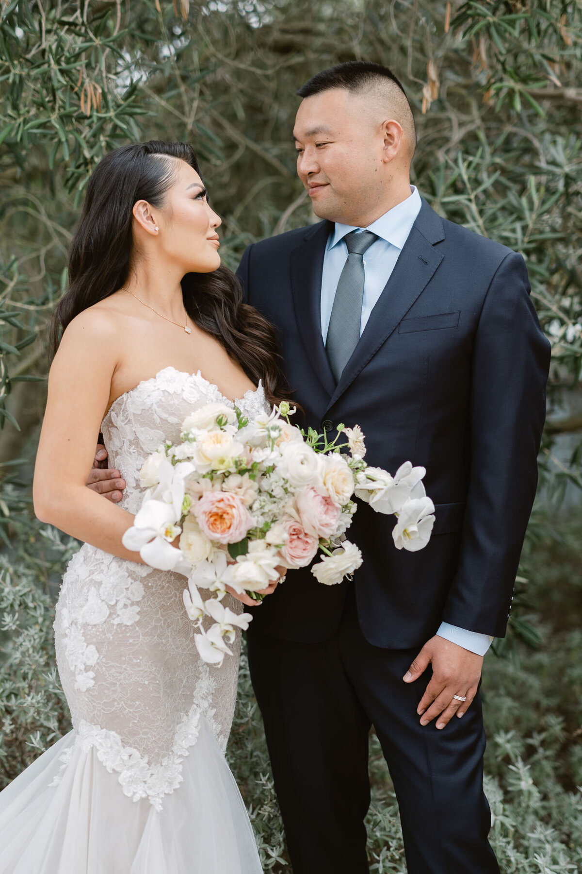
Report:
[[[384,139],[366,97],[330,88],[306,97],[293,130],[298,176],[319,218],[346,225],[366,222],[382,197]]]

